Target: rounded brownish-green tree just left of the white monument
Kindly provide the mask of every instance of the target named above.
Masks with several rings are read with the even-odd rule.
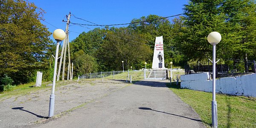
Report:
[[[111,28],[106,33],[104,43],[97,51],[97,58],[106,70],[122,70],[121,61],[126,70],[130,66],[141,68],[140,62],[145,62],[152,52],[142,39],[143,35],[134,37],[140,37],[140,34],[127,28]]]

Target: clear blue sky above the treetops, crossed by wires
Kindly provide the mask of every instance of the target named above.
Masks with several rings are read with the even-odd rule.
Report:
[[[44,19],[48,23],[44,21],[41,23],[46,25],[50,32],[53,32],[57,28],[65,30],[66,22],[62,22],[62,20],[67,21],[64,17],[69,12],[96,24],[130,23],[134,18],[150,14],[162,17],[181,14],[183,5],[187,4],[188,0],[29,0],[29,2],[44,9],[46,12]],[[73,16],[70,17],[70,21],[91,24]],[[86,27],[94,28],[94,26]],[[90,29],[76,25],[70,26],[70,41],[78,37],[79,33],[88,32]],[[52,36],[51,39],[53,39]]]

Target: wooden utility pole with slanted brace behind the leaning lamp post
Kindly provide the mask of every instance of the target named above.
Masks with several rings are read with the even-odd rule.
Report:
[[[57,75],[57,81],[59,81],[59,79],[60,79],[63,52],[65,52],[65,55],[64,55],[62,70],[63,70],[63,72],[65,72],[66,50],[67,50],[67,42],[69,40],[69,38],[68,38],[68,27],[69,27],[69,23],[70,23],[70,15],[71,15],[71,13],[69,13],[69,15],[67,16],[67,26],[66,26],[66,30],[65,30],[66,38],[64,39],[63,45],[62,45],[61,58],[60,58],[60,63],[59,63],[59,68],[58,68],[58,75]],[[64,80],[64,73],[63,72],[62,72],[62,80]]]

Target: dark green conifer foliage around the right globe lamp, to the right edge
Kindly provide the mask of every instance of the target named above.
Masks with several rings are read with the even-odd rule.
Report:
[[[212,54],[207,35],[221,34],[217,58],[241,58],[255,53],[254,0],[190,0],[184,7],[186,29],[180,38],[182,52],[191,60],[205,60]]]

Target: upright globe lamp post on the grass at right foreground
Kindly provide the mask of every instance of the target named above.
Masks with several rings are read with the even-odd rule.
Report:
[[[216,64],[216,58],[215,58],[215,50],[216,50],[216,44],[218,44],[221,41],[221,34],[218,32],[211,32],[207,40],[210,44],[212,44],[212,127],[217,128],[218,127],[218,118],[217,118],[217,102],[215,98],[215,64]]]

